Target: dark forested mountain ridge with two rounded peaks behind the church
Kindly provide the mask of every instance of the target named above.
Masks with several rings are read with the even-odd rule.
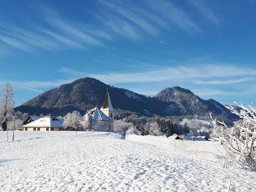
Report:
[[[44,92],[15,110],[31,115],[65,115],[73,110],[84,114],[88,109],[102,106],[107,90],[118,113],[145,116],[208,116],[211,112],[214,115],[234,118],[234,115],[216,100],[200,99],[191,91],[179,86],[166,88],[154,97],[147,97],[89,77]]]

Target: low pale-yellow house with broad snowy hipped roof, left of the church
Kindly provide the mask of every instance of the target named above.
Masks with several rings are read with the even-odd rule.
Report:
[[[62,131],[63,120],[52,116],[44,116],[37,120],[23,125],[23,131]]]

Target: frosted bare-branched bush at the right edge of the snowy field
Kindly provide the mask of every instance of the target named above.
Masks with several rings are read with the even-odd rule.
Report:
[[[213,119],[214,135],[221,140],[227,154],[226,160],[256,171],[256,109],[238,105],[241,110],[235,111],[241,121],[227,127],[225,122]]]

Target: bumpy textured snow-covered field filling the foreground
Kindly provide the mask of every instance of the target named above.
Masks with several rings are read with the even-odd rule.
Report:
[[[12,136],[12,134],[10,134]],[[256,191],[256,173],[106,132],[0,132],[0,191]]]

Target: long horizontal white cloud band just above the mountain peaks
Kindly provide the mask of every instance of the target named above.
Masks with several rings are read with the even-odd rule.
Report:
[[[234,65],[189,65],[179,67],[161,67],[156,70],[148,70],[136,73],[108,73],[108,74],[88,74],[77,72],[70,68],[61,68],[61,72],[65,72],[70,76],[76,77],[95,77],[106,83],[147,83],[161,81],[193,81],[195,84],[202,83],[205,79],[209,79],[209,84],[226,84],[241,83],[250,81],[256,77],[256,70],[253,68],[242,68]],[[251,76],[251,77],[248,77]],[[227,79],[228,77],[242,77],[241,79]],[[220,79],[221,78],[221,79]],[[225,79],[224,79],[225,78]],[[212,80],[214,79],[214,80]],[[216,80],[217,79],[217,80]],[[207,84],[207,83],[205,83]]]

